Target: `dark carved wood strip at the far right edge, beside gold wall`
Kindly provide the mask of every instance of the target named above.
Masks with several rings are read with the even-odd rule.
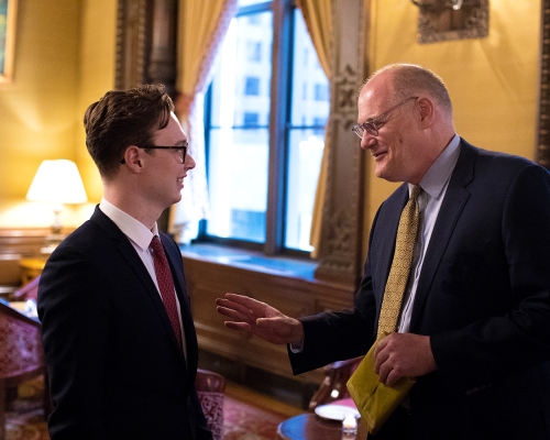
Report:
[[[542,0],[537,161],[550,169],[550,0]]]

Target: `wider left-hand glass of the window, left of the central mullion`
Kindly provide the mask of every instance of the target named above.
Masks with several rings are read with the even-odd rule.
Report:
[[[264,242],[272,12],[233,19],[211,87],[208,235]]]

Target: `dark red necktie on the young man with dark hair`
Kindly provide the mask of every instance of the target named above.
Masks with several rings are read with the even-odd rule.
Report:
[[[174,333],[176,333],[179,346],[183,348],[182,328],[179,327],[179,317],[177,315],[174,279],[172,278],[168,260],[166,260],[166,254],[164,253],[164,248],[158,239],[158,235],[153,237],[153,240],[151,241],[151,249],[153,250],[153,264],[155,265],[156,282],[158,283],[161,297],[163,298],[164,307],[168,314],[168,318],[170,320],[172,328],[174,329]]]

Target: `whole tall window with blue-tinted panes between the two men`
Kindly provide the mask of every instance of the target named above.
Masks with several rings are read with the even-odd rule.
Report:
[[[304,65],[305,54],[317,55],[292,0],[239,0],[239,7],[207,95],[211,215],[199,240],[307,255],[328,79],[318,62]],[[275,18],[273,7],[284,16]],[[264,48],[261,56],[252,56],[253,44]]]

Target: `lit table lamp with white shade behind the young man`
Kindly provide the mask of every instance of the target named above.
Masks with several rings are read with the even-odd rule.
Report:
[[[44,253],[51,253],[65,238],[62,234],[59,213],[64,204],[85,204],[88,201],[82,179],[76,164],[67,160],[44,161],[40,164],[26,199],[52,204],[54,221],[52,233],[46,237]]]

